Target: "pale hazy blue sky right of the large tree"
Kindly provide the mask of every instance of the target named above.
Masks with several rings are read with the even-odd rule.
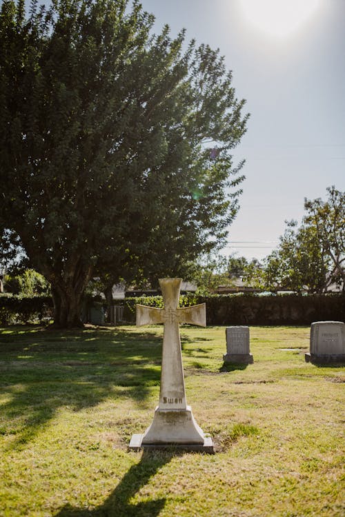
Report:
[[[246,99],[246,179],[222,254],[263,259],[304,198],[345,190],[345,0],[141,0],[172,37],[219,48]]]

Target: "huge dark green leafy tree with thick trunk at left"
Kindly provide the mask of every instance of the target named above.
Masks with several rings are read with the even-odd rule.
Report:
[[[218,52],[153,21],[127,0],[1,6],[0,223],[59,326],[80,325],[92,274],[175,274],[237,212],[244,101]]]

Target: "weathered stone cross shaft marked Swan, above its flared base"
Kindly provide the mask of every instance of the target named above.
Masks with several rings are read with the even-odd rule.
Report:
[[[179,308],[181,278],[161,278],[164,309],[137,305],[137,326],[164,323],[159,409],[186,409],[179,323],[206,327],[206,305]]]

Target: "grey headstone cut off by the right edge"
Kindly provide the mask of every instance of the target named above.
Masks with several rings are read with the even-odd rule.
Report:
[[[305,359],[307,363],[345,363],[345,323],[312,323],[310,352],[305,354]]]

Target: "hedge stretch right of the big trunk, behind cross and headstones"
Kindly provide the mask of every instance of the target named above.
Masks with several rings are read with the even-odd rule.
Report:
[[[180,307],[206,303],[208,325],[310,325],[313,321],[344,321],[345,296],[319,294],[302,296],[281,294],[258,296],[255,294],[215,294],[180,297]],[[124,320],[135,322],[135,305],[162,307],[161,296],[126,298]]]

